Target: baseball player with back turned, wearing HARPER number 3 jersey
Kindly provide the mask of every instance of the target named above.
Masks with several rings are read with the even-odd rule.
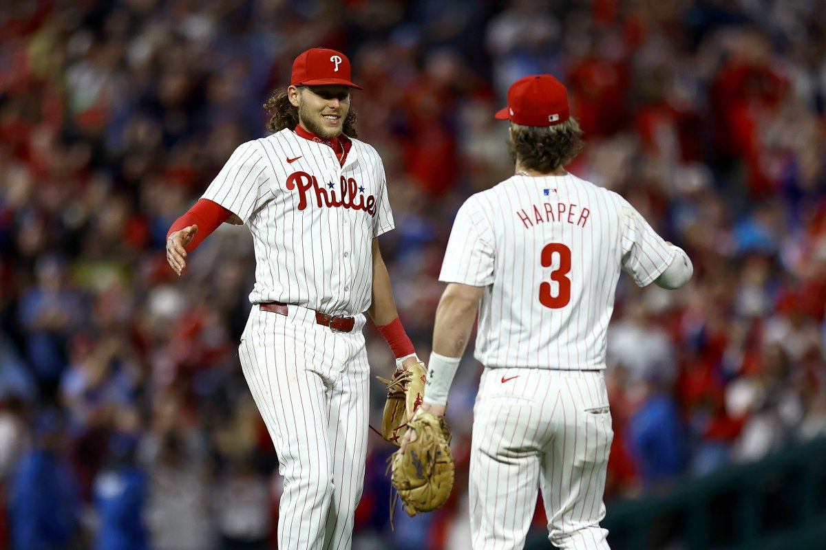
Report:
[[[605,549],[614,432],[603,369],[619,271],[676,289],[693,267],[628,201],[564,170],[582,131],[555,78],[514,82],[496,118],[510,120],[516,173],[472,195],[453,223],[422,407],[444,415],[478,308],[473,548],[523,548],[539,489],[554,545]]]

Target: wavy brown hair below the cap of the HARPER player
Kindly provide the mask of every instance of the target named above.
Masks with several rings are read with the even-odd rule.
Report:
[[[561,125],[523,126],[511,124],[508,141],[511,162],[549,174],[571,162],[582,151],[582,129],[573,117]]]

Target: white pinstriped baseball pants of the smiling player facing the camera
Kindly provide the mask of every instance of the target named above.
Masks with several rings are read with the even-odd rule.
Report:
[[[284,491],[278,548],[347,550],[367,458],[369,365],[364,316],[352,332],[253,306],[239,357],[278,454]]]

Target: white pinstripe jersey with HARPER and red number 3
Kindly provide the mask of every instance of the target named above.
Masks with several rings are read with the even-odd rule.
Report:
[[[439,280],[486,287],[488,367],[604,369],[620,269],[650,284],[675,252],[627,200],[577,176],[513,176],[459,209]]]

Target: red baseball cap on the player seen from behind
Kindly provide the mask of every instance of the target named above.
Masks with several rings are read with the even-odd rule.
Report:
[[[559,125],[571,118],[567,90],[549,74],[520,78],[508,88],[508,106],[494,115],[524,126]]]

